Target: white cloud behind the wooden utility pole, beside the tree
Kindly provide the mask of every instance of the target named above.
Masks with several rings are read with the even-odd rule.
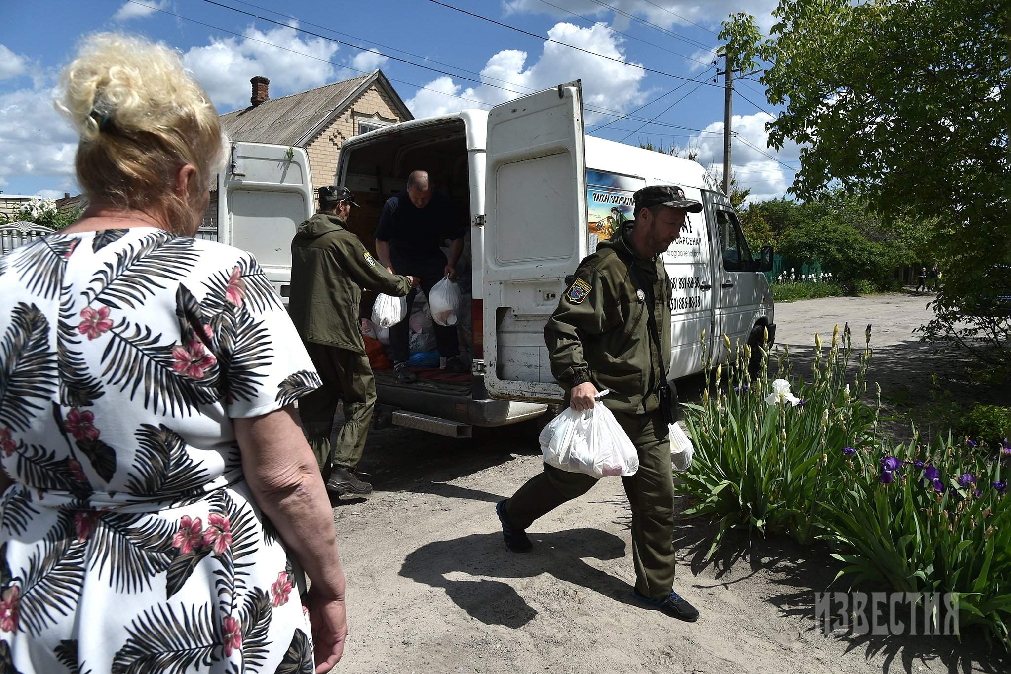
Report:
[[[734,115],[730,123],[730,128],[737,134],[731,140],[731,172],[736,174],[741,187],[751,189],[749,202],[777,199],[786,194],[787,188],[794,182],[793,171],[766,155],[793,167],[800,165],[800,147],[797,143],[787,141],[779,151],[766,147],[768,132],[765,131],[765,122],[769,119],[764,112],[756,112]],[[713,122],[703,130],[706,132],[690,138],[687,147],[698,151],[696,161],[703,166],[712,167],[710,171],[713,176],[722,180],[723,122]]]

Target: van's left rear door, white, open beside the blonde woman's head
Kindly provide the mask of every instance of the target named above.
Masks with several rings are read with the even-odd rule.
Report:
[[[217,180],[218,240],[255,255],[287,304],[291,239],[315,212],[305,149],[233,142]]]

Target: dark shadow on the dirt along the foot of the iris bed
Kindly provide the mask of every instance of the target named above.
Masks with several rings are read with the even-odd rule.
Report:
[[[774,605],[784,617],[809,618],[807,631],[823,634],[825,623],[815,617],[815,593],[848,590],[842,584],[832,585],[842,564],[829,556],[830,551],[825,546],[801,546],[785,537],[762,539],[754,536],[749,539],[744,533],[728,532],[713,558],[707,561],[706,556],[717,529],[715,524],[696,519],[679,521],[674,528],[675,546],[687,552],[697,585],[733,589],[736,583],[747,578],[765,576],[770,584],[782,590],[766,601]],[[716,583],[710,586],[699,578],[707,569],[711,569],[716,577]],[[861,586],[859,589],[864,592],[887,590],[874,586]],[[905,618],[899,617],[911,623],[908,614]],[[835,619],[839,619],[838,615]],[[919,624],[922,629],[922,614]],[[1011,671],[1011,659],[1001,647],[991,647],[979,631],[972,629],[966,630],[960,643],[954,636],[917,637],[856,632],[855,629],[837,629],[824,638],[844,642],[847,652],[862,650],[868,660],[883,658],[882,671],[885,674],[912,674],[927,665],[932,671],[936,671],[939,665],[950,674]]]

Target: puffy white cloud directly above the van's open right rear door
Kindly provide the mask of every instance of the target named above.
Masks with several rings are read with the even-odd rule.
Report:
[[[548,36],[594,54],[625,60],[622,38],[603,25],[580,28],[561,22],[548,31]],[[634,65],[601,59],[555,42],[545,42],[540,59],[529,68],[527,58],[526,52],[518,50],[498,52],[481,70],[482,84],[463,89],[451,78],[439,77],[426,85],[435,91],[419,90],[406,101],[407,107],[416,117],[445,114],[475,107],[474,101],[493,105],[577,79],[582,79],[586,106],[624,112],[645,99],[645,92],[639,86],[645,73]],[[598,116],[588,114],[587,123],[593,123]]]

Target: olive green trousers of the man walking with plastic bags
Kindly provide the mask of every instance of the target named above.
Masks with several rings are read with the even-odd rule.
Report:
[[[632,561],[636,591],[650,599],[666,599],[674,582],[674,482],[667,422],[659,410],[646,414],[614,412],[639,453],[639,470],[623,477],[632,507]],[[519,528],[565,501],[589,491],[596,478],[544,464],[505,501],[505,514]]]

